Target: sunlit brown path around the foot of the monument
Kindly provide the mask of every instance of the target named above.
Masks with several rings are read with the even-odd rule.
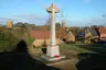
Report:
[[[76,58],[76,55],[78,52],[76,50],[71,50],[66,48],[61,48],[61,52],[64,54],[67,59],[54,63],[47,63],[47,66],[57,67],[61,68],[62,70],[77,70],[75,65],[78,62],[78,59]],[[42,55],[41,51],[38,51],[36,49],[32,50],[31,56],[33,58],[39,59],[42,62],[46,62],[42,58],[40,58],[40,55]]]

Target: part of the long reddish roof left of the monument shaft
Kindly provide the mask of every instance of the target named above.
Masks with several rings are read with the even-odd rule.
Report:
[[[50,38],[50,31],[31,31],[31,37],[35,39],[49,39]]]

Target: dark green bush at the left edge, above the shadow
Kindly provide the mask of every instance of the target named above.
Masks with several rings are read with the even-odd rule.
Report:
[[[0,51],[11,51],[15,49],[18,42],[10,32],[0,32]]]

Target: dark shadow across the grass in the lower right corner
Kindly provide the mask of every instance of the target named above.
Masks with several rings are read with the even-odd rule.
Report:
[[[82,45],[80,47],[94,52],[77,55],[80,61],[76,68],[78,70],[106,70],[106,45]]]

